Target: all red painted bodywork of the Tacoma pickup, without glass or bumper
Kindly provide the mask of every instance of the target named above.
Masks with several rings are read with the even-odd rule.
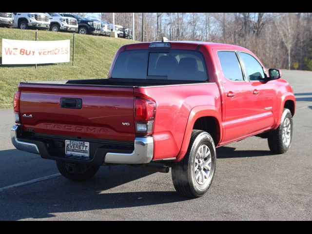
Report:
[[[145,42],[120,47],[108,78],[122,51],[148,49],[149,45],[150,42]],[[192,41],[171,42],[171,48],[201,52],[209,82],[142,87],[21,83],[20,116],[34,116],[32,119],[21,118],[23,129],[33,128],[38,133],[64,136],[133,141],[136,137],[134,97],[148,98],[156,102],[153,160],[176,157],[179,161],[188,149],[194,123],[199,117],[215,118],[217,146],[221,146],[277,128],[285,102],[291,100],[295,106],[292,88],[286,80],[233,82],[223,76],[217,51],[247,52],[257,59],[246,48]],[[235,96],[228,97],[230,92]],[[60,108],[60,98],[81,98],[82,109]],[[123,126],[122,122],[129,122],[131,127]]]

